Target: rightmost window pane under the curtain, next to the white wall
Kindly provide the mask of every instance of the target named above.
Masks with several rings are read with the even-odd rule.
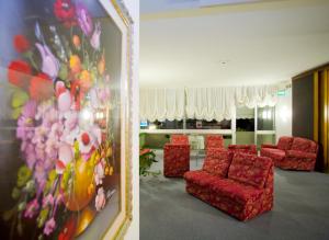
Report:
[[[258,130],[274,130],[274,106],[258,107]]]

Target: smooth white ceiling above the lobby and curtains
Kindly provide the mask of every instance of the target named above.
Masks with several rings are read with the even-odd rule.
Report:
[[[141,87],[280,82],[329,61],[329,0],[201,9],[191,7],[197,0],[149,1],[140,1]]]

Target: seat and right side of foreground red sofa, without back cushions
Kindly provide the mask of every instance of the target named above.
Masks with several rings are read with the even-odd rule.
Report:
[[[266,160],[264,164],[268,165]],[[184,179],[188,193],[239,220],[251,219],[273,208],[273,164],[271,161],[261,188],[201,170],[186,172]]]

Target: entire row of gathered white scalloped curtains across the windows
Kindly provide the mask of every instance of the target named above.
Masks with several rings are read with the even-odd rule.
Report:
[[[235,107],[274,106],[276,85],[141,89],[140,118],[148,121],[230,119]]]

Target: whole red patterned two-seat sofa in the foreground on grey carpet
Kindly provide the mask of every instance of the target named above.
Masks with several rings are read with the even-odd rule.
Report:
[[[225,149],[211,149],[203,169],[184,174],[186,192],[239,220],[273,208],[273,162]]]

